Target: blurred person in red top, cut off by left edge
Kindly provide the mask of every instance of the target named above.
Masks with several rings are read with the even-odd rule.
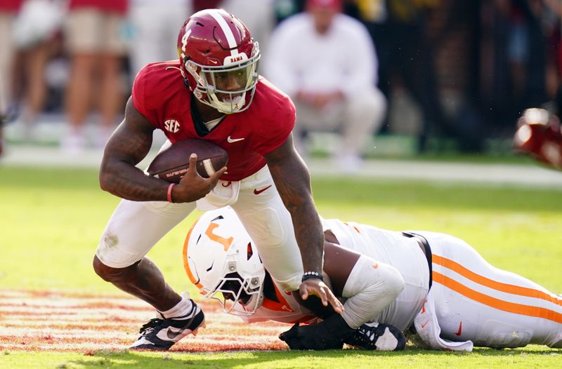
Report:
[[[4,151],[4,124],[8,105],[11,104],[11,70],[13,63],[13,19],[20,10],[22,0],[0,2],[0,155]]]

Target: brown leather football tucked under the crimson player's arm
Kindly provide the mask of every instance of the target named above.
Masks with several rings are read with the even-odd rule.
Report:
[[[181,140],[159,152],[152,160],[148,175],[178,183],[189,168],[189,157],[197,154],[197,173],[204,178],[226,166],[228,154],[221,147],[204,140]]]

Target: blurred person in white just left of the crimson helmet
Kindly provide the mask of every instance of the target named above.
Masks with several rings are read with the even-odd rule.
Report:
[[[131,77],[150,62],[178,56],[178,25],[191,14],[190,0],[130,0],[129,20],[133,27],[129,56]]]

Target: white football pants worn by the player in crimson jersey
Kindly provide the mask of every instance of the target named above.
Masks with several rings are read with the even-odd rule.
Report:
[[[210,210],[232,206],[256,243],[264,266],[285,291],[298,290],[303,274],[291,215],[267,166],[238,182],[219,180],[196,203],[122,200],[105,227],[96,255],[103,264],[124,268],[141,260],[164,234],[196,206]],[[188,229],[185,230],[188,232]],[[178,257],[181,253],[178,245]]]

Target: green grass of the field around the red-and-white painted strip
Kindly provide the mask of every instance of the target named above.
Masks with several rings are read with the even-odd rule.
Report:
[[[388,229],[461,237],[488,262],[562,293],[562,191],[390,180],[313,179],[320,214]],[[91,260],[119,200],[98,188],[91,169],[0,167],[0,290],[119,293]],[[181,261],[194,213],[149,253],[176,290],[195,290]],[[222,354],[0,352],[4,368],[556,368],[562,351],[475,349],[471,354],[356,350],[242,351]]]

